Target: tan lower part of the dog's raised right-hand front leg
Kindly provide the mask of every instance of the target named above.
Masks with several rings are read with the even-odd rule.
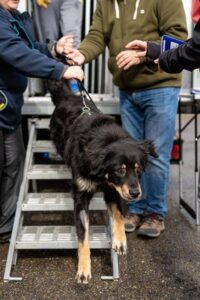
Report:
[[[124,229],[124,218],[121,215],[116,204],[110,206],[113,226],[112,226],[112,248],[119,254],[126,254],[127,243]]]

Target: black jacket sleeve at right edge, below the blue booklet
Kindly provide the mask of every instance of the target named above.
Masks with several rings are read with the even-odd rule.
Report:
[[[200,68],[200,20],[195,26],[193,37],[178,48],[162,53],[159,64],[168,73]]]

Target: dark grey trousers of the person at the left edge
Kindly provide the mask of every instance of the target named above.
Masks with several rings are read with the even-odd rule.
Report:
[[[12,231],[24,159],[21,126],[14,131],[0,128],[0,235]]]

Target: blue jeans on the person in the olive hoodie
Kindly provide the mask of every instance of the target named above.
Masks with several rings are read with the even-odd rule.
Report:
[[[135,214],[167,212],[171,148],[176,124],[179,88],[156,88],[140,92],[120,90],[123,127],[137,140],[153,141],[158,158],[149,157],[141,178],[142,198],[128,204]]]

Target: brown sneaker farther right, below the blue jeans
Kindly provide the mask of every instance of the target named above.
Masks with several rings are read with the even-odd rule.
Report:
[[[144,218],[144,221],[137,231],[137,235],[147,237],[158,237],[165,230],[163,217],[152,213]]]

